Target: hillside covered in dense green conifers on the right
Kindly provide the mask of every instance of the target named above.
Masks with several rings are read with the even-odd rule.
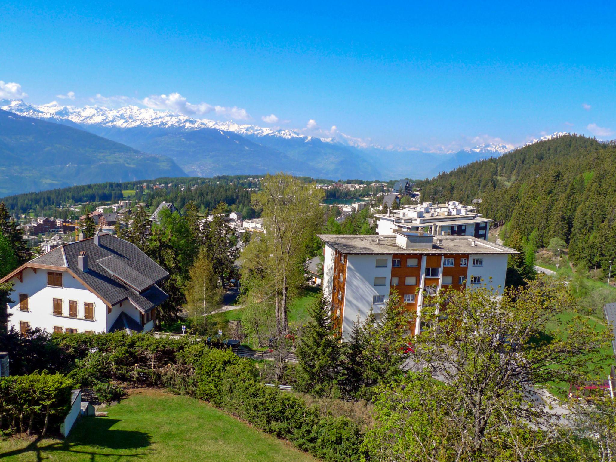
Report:
[[[538,142],[423,183],[425,200],[481,198],[479,209],[540,248],[553,237],[585,269],[616,259],[616,144],[583,136]]]

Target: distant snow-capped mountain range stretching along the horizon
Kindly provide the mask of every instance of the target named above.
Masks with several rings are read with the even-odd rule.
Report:
[[[391,149],[342,134],[315,137],[299,130],[197,119],[132,105],[78,108],[0,100],[0,108],[78,128],[141,153],[168,156],[190,176],[285,171],[328,179],[426,178],[514,148],[492,143],[444,154]]]

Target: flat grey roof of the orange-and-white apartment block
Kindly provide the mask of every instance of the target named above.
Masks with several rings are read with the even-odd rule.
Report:
[[[514,249],[472,236],[439,236],[432,248],[405,249],[396,244],[395,235],[319,234],[326,244],[344,254],[516,254]],[[442,241],[442,244],[437,242]],[[475,245],[472,245],[472,242]]]

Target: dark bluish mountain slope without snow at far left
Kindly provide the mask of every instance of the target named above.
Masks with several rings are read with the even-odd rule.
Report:
[[[185,176],[166,156],[144,154],[81,129],[0,110],[0,196],[49,188]]]

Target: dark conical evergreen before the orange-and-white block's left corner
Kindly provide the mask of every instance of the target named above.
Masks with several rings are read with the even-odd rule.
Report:
[[[308,307],[310,322],[296,349],[298,391],[315,396],[335,395],[342,379],[342,349],[339,331],[331,321],[331,304],[320,293]]]

